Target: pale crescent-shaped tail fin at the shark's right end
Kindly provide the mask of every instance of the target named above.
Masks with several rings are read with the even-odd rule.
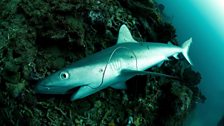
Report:
[[[186,58],[186,60],[187,60],[191,65],[193,65],[192,62],[191,62],[191,59],[190,59],[190,57],[189,57],[189,55],[188,55],[188,51],[189,51],[189,48],[190,48],[191,43],[192,43],[192,38],[188,39],[187,41],[185,41],[185,42],[183,43],[183,45],[182,45],[183,52],[182,52],[182,53],[183,53],[184,57]]]

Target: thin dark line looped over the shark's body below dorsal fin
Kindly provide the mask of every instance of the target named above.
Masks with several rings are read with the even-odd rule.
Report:
[[[92,88],[92,89],[97,89],[97,88],[99,88],[99,87],[103,84],[104,77],[105,77],[105,73],[106,73],[106,70],[107,70],[107,66],[108,66],[109,62],[111,61],[111,59],[113,58],[114,53],[115,53],[116,51],[118,51],[119,49],[126,49],[126,50],[130,51],[130,52],[134,55],[134,57],[135,57],[136,70],[138,70],[137,56],[135,55],[134,51],[131,50],[130,48],[127,48],[127,47],[122,47],[122,46],[121,46],[121,47],[117,47],[117,48],[115,48],[115,49],[113,50],[113,52],[110,54],[110,57],[109,57],[109,59],[108,59],[108,61],[107,61],[107,64],[106,64],[106,66],[105,66],[105,68],[104,68],[104,71],[103,71],[103,75],[102,75],[101,83],[100,83],[99,86],[97,86],[97,87],[92,87],[92,86],[89,86],[89,85],[88,85],[90,88]]]

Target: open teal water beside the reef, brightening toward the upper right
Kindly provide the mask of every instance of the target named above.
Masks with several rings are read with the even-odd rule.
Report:
[[[186,126],[216,126],[224,115],[224,2],[221,0],[159,0],[178,40],[193,38],[190,57],[202,74],[200,89],[206,95],[188,117]]]

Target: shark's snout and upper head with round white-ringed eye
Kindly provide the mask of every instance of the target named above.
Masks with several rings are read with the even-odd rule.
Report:
[[[66,94],[75,87],[86,85],[80,80],[78,71],[76,69],[63,69],[53,73],[39,81],[35,91],[41,94]]]

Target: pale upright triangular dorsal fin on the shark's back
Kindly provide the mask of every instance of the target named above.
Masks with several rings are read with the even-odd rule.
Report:
[[[125,42],[137,42],[137,41],[133,39],[131,32],[129,31],[127,26],[123,24],[119,30],[117,44]]]

